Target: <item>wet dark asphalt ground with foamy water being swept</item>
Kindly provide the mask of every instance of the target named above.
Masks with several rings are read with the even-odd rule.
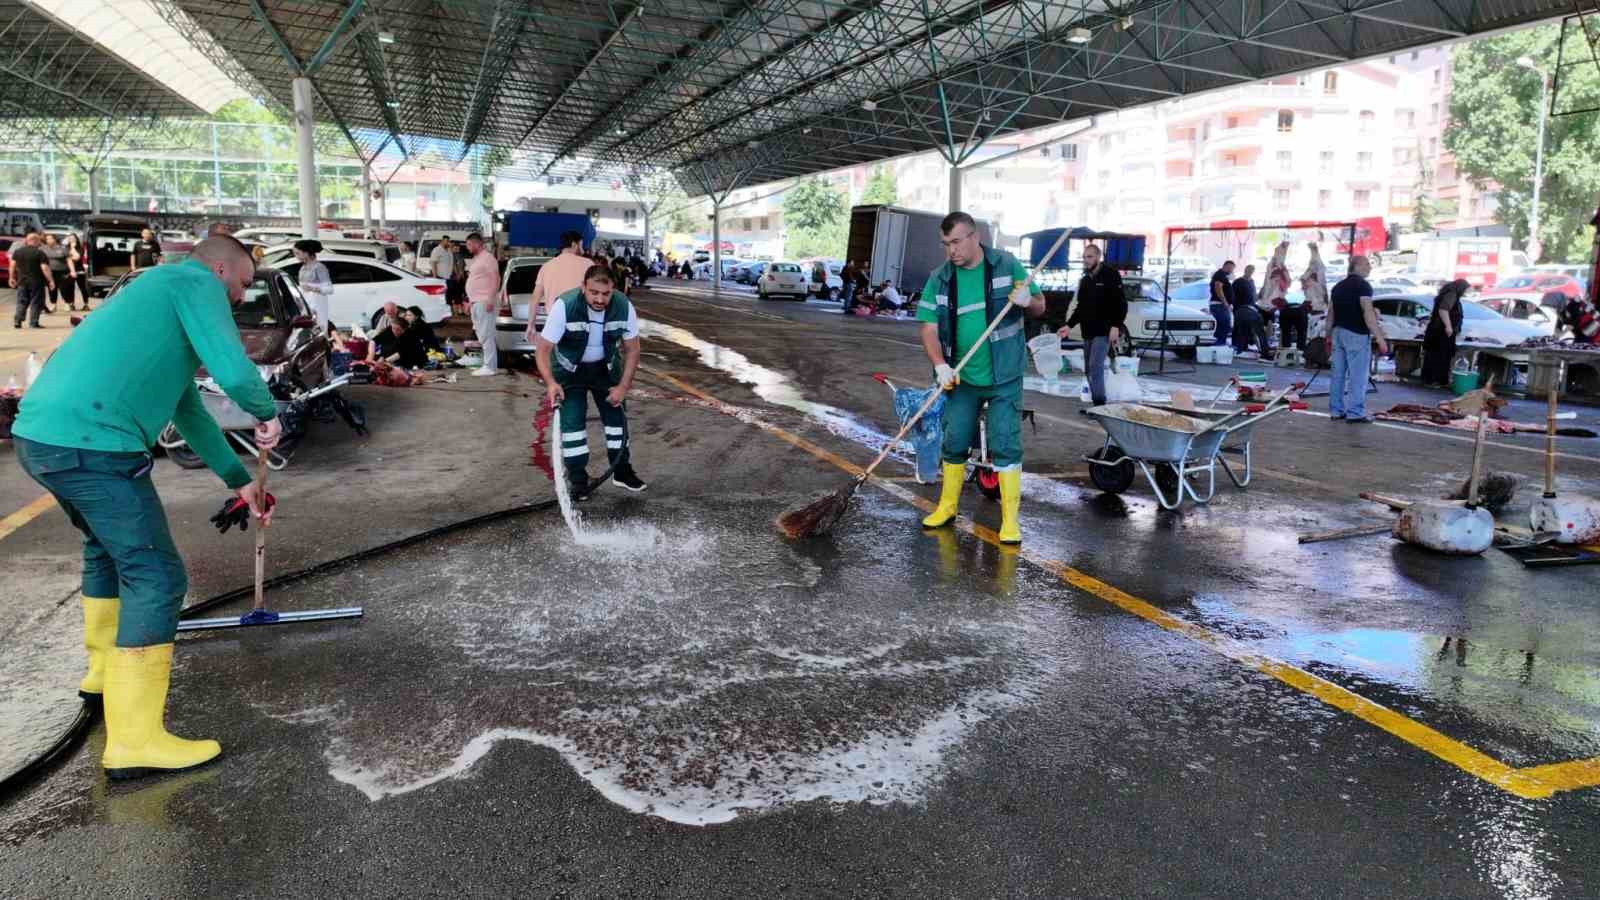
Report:
[[[1314,400],[1258,431],[1248,490],[1168,512],[1142,484],[1093,488],[1082,455],[1102,432],[1035,384],[1054,392],[1026,396],[1027,559],[926,533],[875,487],[834,535],[790,544],[773,517],[848,476],[752,423],[864,464],[896,424],[872,373],[926,378],[917,327],[702,287],[638,303],[646,493],[586,503],[581,544],[538,512],[269,596],[360,604],[358,623],[181,637],[170,727],[224,757],[107,785],[96,727],[0,801],[0,895],[1600,894],[1600,788],[1518,798],[1208,645],[1512,767],[1600,757],[1600,567],[1294,540],[1386,520],[1360,490],[1445,493],[1470,436],[1334,423]],[[1166,365],[1146,383],[1229,375]],[[352,391],[371,436],[318,424],[272,476],[269,570],[550,496],[530,448],[541,396],[526,375]],[[1384,384],[1370,402],[1437,399]],[[1502,522],[1526,520],[1539,447],[1493,439],[1488,468],[1523,479]],[[1560,450],[1562,488],[1600,495],[1600,440]],[[933,496],[904,461],[883,471]],[[190,599],[248,583],[250,538],[205,522],[221,485],[165,461],[157,482]],[[0,458],[0,512],[37,493]],[[998,525],[971,488],[963,514]],[[82,650],[64,517],[3,548],[10,770],[70,721]]]

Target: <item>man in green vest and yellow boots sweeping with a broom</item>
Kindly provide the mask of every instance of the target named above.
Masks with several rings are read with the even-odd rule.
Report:
[[[939,506],[922,524],[939,528],[955,519],[962,482],[966,480],[966,455],[978,440],[978,413],[987,402],[989,460],[1000,476],[1000,540],[1022,543],[1018,524],[1022,504],[1022,370],[1027,367],[1022,315],[1043,315],[1045,298],[1038,285],[1027,282],[1027,269],[1016,256],[978,240],[973,216],[944,216],[939,240],[947,263],[928,275],[917,319],[923,322],[922,346],[928,362],[939,386],[949,391],[944,402],[944,482]],[[1005,320],[957,376],[955,364],[1002,314]]]

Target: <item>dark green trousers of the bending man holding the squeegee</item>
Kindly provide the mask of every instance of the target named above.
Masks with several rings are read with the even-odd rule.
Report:
[[[150,482],[150,455],[18,437],[16,460],[83,532],[83,594],[122,597],[117,645],[171,644],[189,577]]]

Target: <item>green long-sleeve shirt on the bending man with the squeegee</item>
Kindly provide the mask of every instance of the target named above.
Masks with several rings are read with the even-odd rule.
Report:
[[[144,452],[171,421],[213,472],[250,472],[205,412],[195,370],[258,420],[277,404],[245,356],[227,288],[205,263],[157,266],[83,319],[22,396],[13,432],[78,450]]]

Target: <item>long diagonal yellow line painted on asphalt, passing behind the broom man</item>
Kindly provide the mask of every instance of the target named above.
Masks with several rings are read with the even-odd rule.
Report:
[[[640,367],[640,368],[643,368],[650,375],[654,375],[656,378],[661,378],[662,381],[667,381],[669,384],[678,388],[680,391],[696,399],[712,404],[726,415],[734,415],[733,407],[723,404],[717,397],[701,391],[699,388],[694,388],[693,384],[688,384],[680,378],[654,372],[648,367]],[[803,437],[790,434],[789,431],[776,424],[762,421],[758,418],[752,420],[750,416],[734,416],[734,418],[738,418],[739,421],[747,421],[755,428],[760,428],[762,431],[794,447],[798,447],[800,450],[805,450],[813,456],[818,456],[819,460],[832,463],[834,466],[843,469],[851,476],[858,477],[861,476],[861,466],[858,466],[856,463],[851,463],[850,460],[845,460],[843,456],[830,450],[824,450]],[[878,485],[878,488],[885,490],[886,493],[890,493],[898,500],[902,500],[923,511],[930,512],[933,511],[934,504],[930,500],[925,500],[898,484],[883,482],[880,479],[874,479],[874,482]],[[1358,693],[1349,689],[1339,687],[1331,681],[1314,676],[1282,660],[1256,653],[1254,650],[1248,649],[1238,641],[1234,641],[1232,637],[1218,634],[1190,621],[1176,618],[1160,610],[1158,607],[1152,605],[1150,602],[1142,601],[1133,594],[1128,594],[1118,588],[1114,588],[1101,581],[1099,578],[1080,572],[1061,560],[1050,559],[1027,548],[1003,544],[1000,543],[1000,535],[997,535],[994,530],[984,525],[973,522],[971,519],[966,519],[965,516],[955,520],[955,527],[976,536],[978,540],[982,540],[989,544],[1000,548],[1002,551],[1014,551],[1021,556],[1021,559],[1026,559],[1034,565],[1038,565],[1040,569],[1054,573],[1058,578],[1061,578],[1062,581],[1072,585],[1080,591],[1093,594],[1115,605],[1117,609],[1133,613],[1166,631],[1171,631],[1174,634],[1182,634],[1184,637],[1189,637],[1190,641],[1195,641],[1197,644],[1202,644],[1222,657],[1227,657],[1234,661],[1250,666],[1262,674],[1272,676],[1296,690],[1301,690],[1304,693],[1309,693],[1310,697],[1315,697],[1317,700],[1322,700],[1323,703],[1333,706],[1334,709],[1349,713],[1357,719],[1376,725],[1384,732],[1389,732],[1390,735],[1410,743],[1411,746],[1430,753],[1432,756],[1445,762],[1450,762],[1451,765],[1461,769],[1462,772],[1475,775],[1498,788],[1517,794],[1518,798],[1528,798],[1528,799],[1549,798],[1557,791],[1587,788],[1600,783],[1600,759],[1560,762],[1555,765],[1539,765],[1534,769],[1515,769],[1512,765],[1501,762],[1499,759],[1494,759],[1493,756],[1488,756],[1451,737],[1446,737],[1445,733],[1437,732],[1424,725],[1422,722],[1418,722],[1416,719],[1410,719],[1400,713],[1395,713],[1394,709],[1389,709],[1387,706],[1373,703],[1371,700],[1366,700],[1365,697],[1360,697]]]

